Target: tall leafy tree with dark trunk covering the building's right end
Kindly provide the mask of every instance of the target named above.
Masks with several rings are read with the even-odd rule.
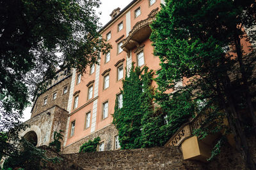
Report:
[[[214,120],[213,115],[218,118],[225,113],[237,150],[246,166],[255,169],[246,141],[246,131],[250,134],[256,131],[252,92],[255,53],[253,48],[246,52],[241,45],[246,39],[244,27],[247,30],[255,27],[255,1],[170,0],[151,25],[150,39],[154,42],[154,55],[161,60],[159,90],[164,93],[173,89],[185,78],[186,86],[179,89],[190,94],[186,101],[203,103],[195,109],[207,114],[209,120]],[[254,37],[254,33],[250,32],[250,36]],[[227,53],[228,46],[231,50]],[[172,100],[172,94],[166,100]],[[200,105],[205,106],[203,110]],[[193,110],[189,113],[195,115]],[[221,122],[214,124],[216,128],[208,132],[223,128]]]

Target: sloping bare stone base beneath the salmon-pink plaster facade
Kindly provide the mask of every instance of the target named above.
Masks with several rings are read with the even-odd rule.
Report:
[[[81,145],[83,145],[83,143],[87,142],[90,139],[93,140],[98,136],[100,137],[101,141],[104,141],[104,150],[113,150],[116,135],[118,135],[118,131],[115,125],[110,124],[107,127],[104,127],[99,131],[95,131],[93,132],[93,134],[90,134],[89,136],[86,136],[83,139],[76,141],[76,143],[65,146],[62,153],[77,153],[79,152],[79,148]]]

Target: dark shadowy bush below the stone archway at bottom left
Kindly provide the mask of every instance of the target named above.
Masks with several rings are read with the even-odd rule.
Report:
[[[22,139],[20,142],[19,151],[16,150],[10,154],[10,157],[4,161],[3,168],[41,169],[41,164],[48,160],[45,151],[36,148],[26,139]]]

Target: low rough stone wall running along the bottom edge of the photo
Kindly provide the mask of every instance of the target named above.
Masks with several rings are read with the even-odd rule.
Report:
[[[204,163],[183,160],[179,148],[173,146],[135,150],[113,150],[63,155],[87,170],[96,169],[204,169]]]

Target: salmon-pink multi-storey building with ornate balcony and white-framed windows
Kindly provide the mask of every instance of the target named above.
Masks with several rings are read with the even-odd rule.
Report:
[[[63,153],[76,153],[89,139],[100,137],[99,150],[120,148],[118,131],[112,123],[115,99],[120,96],[125,67],[148,66],[157,71],[159,58],[153,55],[149,24],[160,9],[161,0],[134,0],[124,10],[116,8],[111,20],[101,30],[113,48],[100,54],[99,65],[86,73],[73,70],[68,99],[68,120]]]

